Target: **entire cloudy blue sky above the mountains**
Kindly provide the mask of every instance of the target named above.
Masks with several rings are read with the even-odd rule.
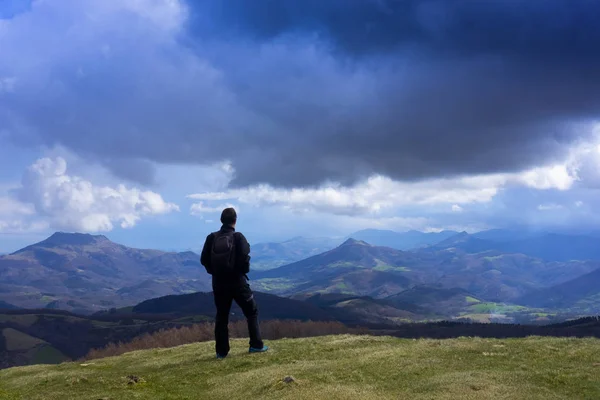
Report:
[[[0,251],[596,229],[595,0],[2,0]]]

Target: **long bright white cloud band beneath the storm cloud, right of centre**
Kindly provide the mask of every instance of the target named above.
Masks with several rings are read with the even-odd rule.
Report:
[[[489,203],[503,189],[527,187],[540,191],[567,192],[576,184],[600,182],[598,142],[583,143],[571,149],[562,163],[540,166],[522,172],[473,175],[398,182],[373,176],[353,187],[338,184],[318,188],[280,189],[256,185],[228,191],[189,195],[202,200],[198,207],[210,209],[204,202],[237,201],[253,206],[277,206],[296,213],[322,212],[337,215],[378,215],[402,207],[447,204],[453,212],[463,205]],[[234,172],[232,172],[233,174]],[[547,205],[542,205],[545,209]]]

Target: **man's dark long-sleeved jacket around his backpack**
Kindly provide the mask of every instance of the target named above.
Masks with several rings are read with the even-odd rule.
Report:
[[[221,226],[219,232],[235,232],[235,228],[229,225]],[[204,247],[202,248],[202,255],[200,256],[200,263],[206,268],[206,272],[213,275],[210,253],[212,249],[213,240],[215,237],[213,232],[206,237]],[[235,232],[235,275],[228,277],[217,277],[213,275],[213,287],[218,286],[239,286],[244,285],[248,281],[246,274],[250,272],[250,244],[241,232]]]

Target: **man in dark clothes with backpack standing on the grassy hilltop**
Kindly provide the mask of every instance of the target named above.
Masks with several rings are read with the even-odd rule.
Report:
[[[240,232],[235,231],[237,214],[233,208],[221,213],[221,229],[206,237],[200,262],[212,275],[213,294],[217,307],[215,341],[217,358],[229,354],[229,312],[233,300],[242,309],[248,321],[250,353],[262,353],[269,348],[263,344],[258,326],[258,307],[248,285],[250,272],[250,245]]]

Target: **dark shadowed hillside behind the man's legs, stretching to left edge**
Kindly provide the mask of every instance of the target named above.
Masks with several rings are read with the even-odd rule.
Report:
[[[315,304],[255,292],[261,320],[336,321]],[[109,343],[128,342],[163,329],[214,320],[212,293],[165,296],[133,307],[91,316],[63,310],[4,310],[0,312],[0,368],[83,357]],[[239,307],[231,321],[243,320]],[[354,319],[354,322],[360,322]],[[45,358],[44,358],[45,357]]]

